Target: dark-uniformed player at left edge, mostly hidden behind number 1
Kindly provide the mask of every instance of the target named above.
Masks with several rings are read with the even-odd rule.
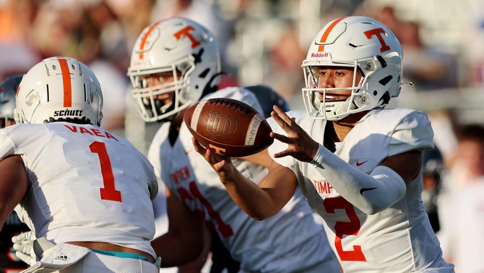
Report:
[[[15,94],[21,80],[22,75],[15,75],[0,83],[0,129],[15,124]],[[9,216],[0,231],[0,273],[15,273],[27,268],[27,265],[15,255],[11,238],[28,230],[15,212]]]

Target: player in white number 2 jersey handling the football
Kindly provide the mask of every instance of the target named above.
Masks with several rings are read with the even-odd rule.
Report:
[[[270,219],[300,189],[324,219],[344,272],[453,272],[420,195],[421,151],[434,147],[430,121],[384,108],[406,84],[395,35],[372,18],[335,19],[302,68],[307,111],[274,107],[273,160],[258,186],[193,139],[232,199],[251,217]]]

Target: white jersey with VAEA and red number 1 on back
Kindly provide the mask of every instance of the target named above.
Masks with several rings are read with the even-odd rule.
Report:
[[[107,242],[156,257],[153,166],[127,140],[94,125],[17,124],[0,130],[0,160],[20,155],[29,188],[15,209],[37,237]]]

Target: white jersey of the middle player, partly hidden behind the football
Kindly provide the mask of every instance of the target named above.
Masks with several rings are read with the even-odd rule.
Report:
[[[204,99],[209,97],[240,100],[261,111],[254,94],[244,89],[224,89]],[[192,134],[185,124],[173,146],[168,140],[169,126],[169,123],[162,124],[149,149],[148,158],[156,175],[217,232],[232,257],[240,261],[242,269],[302,272],[305,266],[326,263],[328,272],[334,272],[330,268],[339,271],[327,241],[318,253],[300,251],[289,260],[279,260],[314,237],[325,236],[324,228],[314,222],[313,213],[299,190],[281,212],[264,221],[254,220],[237,207],[212,167],[194,150]],[[261,166],[233,161],[237,169],[254,182],[258,183],[267,174]]]

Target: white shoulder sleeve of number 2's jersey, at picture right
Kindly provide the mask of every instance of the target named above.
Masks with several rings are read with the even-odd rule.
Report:
[[[434,149],[434,131],[423,112],[413,111],[403,117],[392,131],[388,156],[414,150]]]

